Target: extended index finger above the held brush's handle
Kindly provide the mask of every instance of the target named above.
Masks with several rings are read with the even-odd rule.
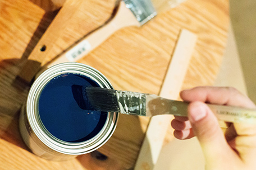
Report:
[[[202,101],[219,105],[255,108],[254,103],[232,87],[195,87],[181,91],[184,101]]]

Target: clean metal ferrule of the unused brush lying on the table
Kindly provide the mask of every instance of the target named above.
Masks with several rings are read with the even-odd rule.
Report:
[[[157,11],[150,0],[123,1],[125,2],[126,7],[134,14],[136,20],[140,22],[140,25],[143,25],[157,15]]]

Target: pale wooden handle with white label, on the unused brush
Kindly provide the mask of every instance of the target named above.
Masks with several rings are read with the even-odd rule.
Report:
[[[49,68],[52,65],[64,62],[77,62],[77,60],[83,58],[83,56],[107,40],[114,32],[127,26],[140,26],[140,23],[132,12],[126,8],[124,1],[121,1],[115,17],[111,21],[84,39],[81,39],[78,44],[58,56],[51,63],[45,65],[45,67]]]

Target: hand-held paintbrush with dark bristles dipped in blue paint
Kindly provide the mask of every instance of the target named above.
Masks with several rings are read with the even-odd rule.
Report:
[[[188,102],[169,100],[157,95],[118,91],[99,87],[80,87],[80,106],[89,101],[94,110],[121,112],[138,116],[188,116]],[[82,95],[82,96],[81,96]],[[218,120],[256,124],[256,110],[234,106],[207,104]]]

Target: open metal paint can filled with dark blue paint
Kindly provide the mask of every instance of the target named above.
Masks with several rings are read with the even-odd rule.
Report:
[[[45,159],[66,160],[93,152],[115,131],[118,114],[82,109],[74,86],[113,88],[98,70],[62,63],[45,70],[32,84],[21,109],[20,132],[31,151]]]

